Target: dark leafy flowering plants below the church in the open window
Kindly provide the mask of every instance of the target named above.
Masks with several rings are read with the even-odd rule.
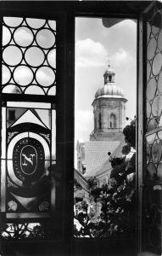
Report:
[[[111,157],[108,153],[112,166],[109,183],[99,188],[97,178],[91,177],[87,181],[89,201],[75,199],[78,210],[75,219],[81,224],[80,229],[75,224],[75,237],[123,237],[135,232],[136,153],[131,154],[131,158],[126,155],[131,148],[136,148],[136,119],[126,125],[123,134],[126,145],[122,153],[125,156]],[[83,201],[86,207],[82,207]],[[95,207],[99,213],[95,212]]]

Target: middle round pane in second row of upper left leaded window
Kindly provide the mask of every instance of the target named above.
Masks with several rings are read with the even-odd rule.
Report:
[[[17,28],[14,32],[14,41],[22,47],[29,46],[33,41],[33,34],[31,29],[26,26]]]

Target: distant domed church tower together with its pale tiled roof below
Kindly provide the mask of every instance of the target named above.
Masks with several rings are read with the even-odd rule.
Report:
[[[125,144],[122,131],[126,120],[126,98],[115,85],[115,72],[110,67],[103,74],[103,88],[97,90],[92,102],[94,129],[90,141],[78,140],[77,168],[84,177],[97,177],[98,185],[107,183],[111,166],[108,152],[121,156]]]

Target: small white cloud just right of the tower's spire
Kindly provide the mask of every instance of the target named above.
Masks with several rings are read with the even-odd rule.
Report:
[[[116,66],[121,64],[126,64],[128,61],[132,61],[131,55],[126,51],[126,49],[120,48],[115,52],[115,55],[111,56],[111,59]]]

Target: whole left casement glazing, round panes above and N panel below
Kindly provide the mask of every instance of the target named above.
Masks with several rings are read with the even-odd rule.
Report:
[[[7,222],[33,222],[55,210],[56,36],[56,20],[3,17],[1,211]]]

